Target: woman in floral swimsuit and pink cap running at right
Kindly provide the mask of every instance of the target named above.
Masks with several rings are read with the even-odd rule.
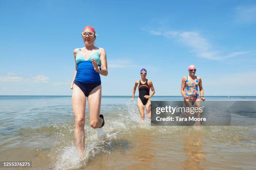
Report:
[[[189,75],[182,77],[181,93],[184,97],[184,107],[200,107],[200,101],[205,101],[202,79],[195,75],[196,70],[195,65],[189,65]],[[200,117],[200,114],[197,112],[195,116]],[[195,125],[200,125],[200,121],[195,122]]]

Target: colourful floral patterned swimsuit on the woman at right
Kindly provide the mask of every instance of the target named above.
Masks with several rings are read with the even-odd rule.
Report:
[[[198,85],[199,81],[197,80],[197,76],[195,81],[190,81],[188,79],[186,81],[186,87],[184,89],[184,92],[190,102],[195,102],[199,97]]]

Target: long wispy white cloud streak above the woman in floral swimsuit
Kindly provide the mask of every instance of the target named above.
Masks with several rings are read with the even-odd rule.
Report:
[[[198,32],[179,32],[179,31],[147,31],[151,35],[160,35],[167,38],[177,38],[179,42],[190,47],[192,52],[197,56],[209,60],[223,60],[225,58],[236,57],[238,55],[245,55],[251,53],[250,51],[235,51],[226,55],[220,54],[219,51],[212,50],[210,42],[202,37]]]

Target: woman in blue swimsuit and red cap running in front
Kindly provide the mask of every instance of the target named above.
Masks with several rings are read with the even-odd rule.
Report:
[[[101,128],[104,117],[100,115],[101,103],[101,75],[108,75],[106,52],[103,48],[95,47],[95,29],[87,26],[82,31],[84,47],[74,50],[76,70],[70,88],[72,93],[72,107],[75,117],[74,135],[81,157],[84,153],[84,121],[86,97],[90,109],[90,125]],[[101,68],[100,68],[101,66]]]

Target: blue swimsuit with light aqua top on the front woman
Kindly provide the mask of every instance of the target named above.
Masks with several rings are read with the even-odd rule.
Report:
[[[86,97],[95,87],[101,85],[100,74],[94,70],[92,59],[96,60],[99,66],[101,65],[99,49],[92,53],[88,60],[84,60],[81,49],[78,50],[76,56],[77,75],[74,84],[84,92]]]

